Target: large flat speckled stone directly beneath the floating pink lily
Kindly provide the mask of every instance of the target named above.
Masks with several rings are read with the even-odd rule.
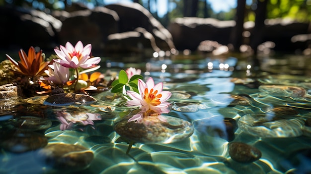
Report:
[[[114,129],[134,142],[168,144],[188,138],[194,132],[190,122],[173,116],[144,116],[140,123],[127,121],[128,118],[116,123]]]

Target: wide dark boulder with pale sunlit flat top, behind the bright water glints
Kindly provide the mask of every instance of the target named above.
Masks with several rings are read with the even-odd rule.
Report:
[[[183,17],[174,19],[168,26],[178,50],[196,50],[205,40],[229,44],[234,21],[220,21],[213,18]]]

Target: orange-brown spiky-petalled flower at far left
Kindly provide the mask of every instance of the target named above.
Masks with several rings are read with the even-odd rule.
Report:
[[[48,64],[52,63],[49,61],[44,61],[42,55],[42,50],[36,53],[33,47],[30,47],[28,50],[28,56],[24,50],[20,49],[18,52],[20,61],[16,62],[13,58],[8,55],[5,55],[14,65],[15,68],[12,69],[15,73],[25,75],[25,76],[39,76],[43,74],[44,70],[48,68]]]

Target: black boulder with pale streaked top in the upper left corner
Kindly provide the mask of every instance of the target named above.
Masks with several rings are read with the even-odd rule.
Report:
[[[54,48],[62,22],[45,12],[13,6],[0,6],[1,49],[24,49],[38,46]]]

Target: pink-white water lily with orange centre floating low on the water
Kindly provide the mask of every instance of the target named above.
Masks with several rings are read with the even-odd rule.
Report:
[[[172,95],[169,91],[162,91],[163,83],[155,85],[154,79],[150,77],[146,83],[138,79],[138,91],[127,91],[128,96],[132,99],[127,101],[127,106],[139,106],[144,113],[168,113],[170,103],[166,102]],[[140,119],[143,115],[135,115],[129,119],[134,121]]]

